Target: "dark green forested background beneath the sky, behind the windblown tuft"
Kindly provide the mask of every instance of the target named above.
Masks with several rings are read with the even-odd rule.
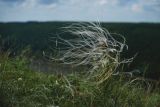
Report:
[[[28,22],[28,23],[0,23],[1,48],[10,49],[12,55],[18,55],[24,48],[30,48],[34,56],[53,52],[55,47],[51,37],[61,33],[61,27],[76,22]],[[145,76],[157,79],[160,77],[160,24],[158,23],[102,23],[112,33],[122,34],[126,38],[128,50],[122,52],[122,58],[136,55],[125,71],[147,68]],[[61,34],[63,38],[73,38],[68,33]],[[127,69],[126,69],[127,68]]]

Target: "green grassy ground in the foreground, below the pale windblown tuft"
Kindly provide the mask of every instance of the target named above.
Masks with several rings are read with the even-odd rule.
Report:
[[[158,82],[111,76],[101,84],[85,73],[30,70],[27,58],[0,55],[0,107],[159,107]]]

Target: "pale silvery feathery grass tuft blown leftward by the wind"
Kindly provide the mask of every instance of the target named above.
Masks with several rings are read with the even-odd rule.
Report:
[[[53,59],[75,66],[90,65],[90,76],[96,77],[100,83],[113,73],[117,73],[116,69],[121,63],[132,61],[132,58],[122,61],[120,59],[123,49],[128,48],[125,38],[119,34],[109,33],[99,23],[72,24],[64,29],[76,38],[67,40],[58,36],[56,45],[63,44],[67,48],[61,49],[63,55],[60,58]]]

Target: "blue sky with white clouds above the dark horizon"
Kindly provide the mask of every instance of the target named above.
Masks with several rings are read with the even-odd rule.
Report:
[[[160,22],[160,0],[0,0],[0,22]]]

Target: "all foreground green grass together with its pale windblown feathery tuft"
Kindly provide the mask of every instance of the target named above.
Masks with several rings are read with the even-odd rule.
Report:
[[[66,40],[59,37],[61,41],[58,40],[57,45],[64,43],[69,48],[63,49],[60,56],[49,58],[75,66],[88,65],[91,69],[87,71],[68,74],[33,71],[28,67],[31,58],[28,51],[23,50],[17,56],[13,50],[5,51],[2,47],[0,106],[159,107],[159,81],[124,72],[122,63],[132,59],[121,60],[120,53],[126,46],[123,37],[120,42],[120,38],[115,39],[100,26],[85,26],[67,28],[79,38]],[[3,42],[1,44],[4,46]],[[71,55],[75,55],[74,58]]]

